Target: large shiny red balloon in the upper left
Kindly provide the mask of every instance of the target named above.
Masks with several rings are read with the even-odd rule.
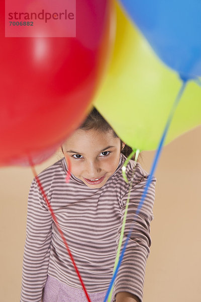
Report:
[[[29,157],[38,164],[90,109],[113,45],[113,1],[76,0],[75,38],[6,38],[3,3],[0,166],[26,164]]]

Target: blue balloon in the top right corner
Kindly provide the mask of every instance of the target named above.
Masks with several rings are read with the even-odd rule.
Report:
[[[150,45],[181,79],[201,76],[201,0],[120,0]]]

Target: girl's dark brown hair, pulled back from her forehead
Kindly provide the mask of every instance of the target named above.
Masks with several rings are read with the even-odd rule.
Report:
[[[96,131],[103,131],[108,132],[110,130],[113,131],[114,137],[119,137],[117,133],[114,131],[114,129],[111,127],[111,125],[105,120],[105,118],[97,111],[95,107],[91,110],[87,118],[84,120],[84,122],[81,124],[79,129],[83,130],[91,130],[94,129]],[[123,141],[121,140],[121,148],[123,147]],[[133,152],[133,149],[129,147],[127,144],[124,146],[124,148],[121,150],[121,153],[124,154],[126,157],[128,157]],[[132,160],[135,159],[135,154],[132,157]]]

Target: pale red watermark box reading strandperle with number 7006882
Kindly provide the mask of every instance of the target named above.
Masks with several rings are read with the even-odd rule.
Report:
[[[75,37],[76,0],[5,0],[5,37]]]

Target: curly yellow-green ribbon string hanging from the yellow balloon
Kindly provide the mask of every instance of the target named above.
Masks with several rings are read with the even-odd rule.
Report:
[[[127,160],[125,161],[125,163],[122,167],[122,174],[123,174],[123,177],[124,177],[126,183],[128,183],[128,179],[126,177],[126,167],[129,163],[129,160],[133,157],[134,153],[136,154],[135,155],[135,161],[137,162],[138,156],[140,154],[140,150],[139,149],[134,149],[133,152],[128,156]],[[134,168],[133,173],[132,173],[132,181],[129,185],[129,193],[128,193],[128,198],[127,198],[127,202],[126,202],[124,219],[123,219],[123,222],[122,222],[122,230],[121,230],[121,234],[120,234],[120,240],[119,240],[119,245],[118,245],[118,249],[117,249],[117,255],[116,255],[116,259],[115,259],[115,265],[114,265],[113,273],[115,272],[115,270],[117,268],[117,265],[119,263],[120,252],[121,252],[121,247],[122,247],[123,238],[124,238],[124,230],[125,230],[125,225],[126,225],[126,217],[127,217],[127,213],[128,213],[128,207],[129,207],[129,200],[130,200],[131,189],[132,189],[132,185],[133,185],[133,175],[134,175],[134,173],[135,173],[135,168]],[[109,297],[108,297],[108,302],[111,302],[112,294],[113,294],[113,288],[114,288],[114,286],[111,288],[111,291],[110,291],[110,294],[109,294]]]

